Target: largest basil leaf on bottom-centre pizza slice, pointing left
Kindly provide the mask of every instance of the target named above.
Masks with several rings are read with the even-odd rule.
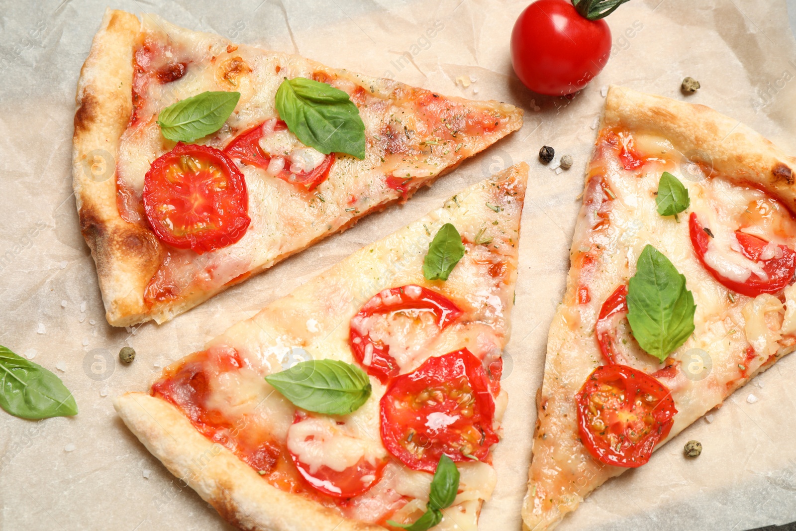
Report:
[[[299,408],[324,415],[356,411],[371,390],[365,371],[336,360],[301,361],[265,381]]]

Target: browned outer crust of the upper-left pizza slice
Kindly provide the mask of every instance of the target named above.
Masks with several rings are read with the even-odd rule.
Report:
[[[133,47],[141,22],[107,10],[77,86],[72,139],[72,185],[80,232],[96,262],[107,321],[115,326],[146,316],[143,291],[164,249],[152,232],[124,221],[116,208],[115,161],[132,112]],[[92,173],[92,165],[98,165]]]

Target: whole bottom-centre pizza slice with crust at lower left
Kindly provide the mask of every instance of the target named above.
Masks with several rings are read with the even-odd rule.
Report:
[[[116,411],[241,529],[474,531],[496,482],[527,174],[355,252]]]

